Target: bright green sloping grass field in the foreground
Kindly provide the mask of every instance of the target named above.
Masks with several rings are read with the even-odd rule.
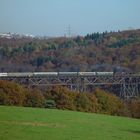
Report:
[[[0,106],[0,140],[140,140],[140,120]]]

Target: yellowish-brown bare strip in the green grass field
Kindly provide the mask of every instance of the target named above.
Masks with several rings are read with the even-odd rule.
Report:
[[[26,126],[46,126],[51,128],[64,128],[65,125],[59,123],[46,123],[46,122],[20,122],[20,121],[0,121],[0,123],[10,124],[10,125],[26,125]]]

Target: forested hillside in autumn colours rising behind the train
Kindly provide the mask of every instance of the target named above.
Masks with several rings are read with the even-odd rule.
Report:
[[[140,70],[140,30],[84,37],[0,38],[0,71]]]

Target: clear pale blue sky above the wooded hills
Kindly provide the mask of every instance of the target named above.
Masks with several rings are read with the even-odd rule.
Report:
[[[86,35],[140,28],[140,0],[0,0],[0,32]]]

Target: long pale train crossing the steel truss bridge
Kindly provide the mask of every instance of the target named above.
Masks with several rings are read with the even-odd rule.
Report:
[[[114,72],[3,72],[0,77],[113,76]],[[126,73],[119,73],[124,75]]]

